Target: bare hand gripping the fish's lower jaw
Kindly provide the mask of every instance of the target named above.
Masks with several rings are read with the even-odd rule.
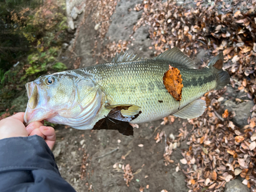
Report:
[[[53,127],[44,126],[43,122],[32,122],[27,127],[23,124],[24,113],[20,112],[0,121],[0,139],[10,137],[28,137],[38,135],[45,139],[47,145],[52,150],[56,135]]]

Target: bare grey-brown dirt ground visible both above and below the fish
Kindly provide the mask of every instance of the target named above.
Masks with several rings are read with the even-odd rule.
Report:
[[[99,31],[94,30],[95,23],[91,22],[92,14],[87,17],[86,22],[80,27],[76,39],[74,52],[81,58],[80,68],[105,62],[101,57],[93,56],[95,40],[101,42],[97,45],[96,53],[104,50],[104,46],[110,41],[132,40],[133,46],[129,47],[129,53],[137,53],[140,56],[152,58],[154,50],[149,50],[151,40],[148,38],[148,27],[141,27],[133,33],[133,26],[141,16],[141,11],[133,8],[138,1],[120,1],[117,3],[116,12],[112,15],[112,24],[106,37],[109,39],[95,39]],[[87,5],[88,6],[88,5]],[[129,9],[132,9],[129,12]],[[79,20],[84,16],[80,15]],[[133,35],[133,39],[130,37]],[[130,44],[131,45],[131,44]],[[67,53],[68,54],[68,53]],[[68,54],[69,56],[69,54]],[[65,55],[63,58],[67,58]],[[77,57],[69,59],[66,63],[73,68],[73,62]],[[111,60],[111,58],[108,58]],[[117,131],[81,131],[65,129],[65,126],[56,127],[57,142],[53,150],[61,176],[66,179],[77,191],[188,191],[184,182],[185,176],[175,168],[182,159],[181,150],[186,148],[186,141],[173,153],[173,164],[164,165],[164,142],[156,143],[154,139],[161,130],[165,131],[167,137],[173,133],[178,135],[182,127],[182,121],[176,120],[172,125],[160,125],[162,120],[139,124],[139,129],[134,128],[134,136],[123,136]],[[155,131],[155,129],[157,130]],[[155,132],[154,132],[155,131]],[[119,142],[120,143],[119,143]],[[143,147],[139,147],[143,144]],[[118,151],[97,158],[115,150]],[[125,156],[122,160],[122,156]],[[87,159],[84,161],[83,156]],[[82,161],[83,160],[83,161]],[[123,179],[122,169],[113,168],[115,163],[122,165],[130,164],[132,172],[136,173],[130,186],[126,186]],[[120,165],[119,165],[120,166]],[[83,167],[83,168],[81,168]],[[81,179],[81,170],[84,178]],[[146,189],[146,185],[149,185]]]

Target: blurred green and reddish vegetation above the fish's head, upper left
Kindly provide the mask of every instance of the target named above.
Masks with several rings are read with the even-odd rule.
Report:
[[[64,13],[64,0],[0,2],[0,115],[25,92],[25,83],[67,69],[58,61],[67,29]]]

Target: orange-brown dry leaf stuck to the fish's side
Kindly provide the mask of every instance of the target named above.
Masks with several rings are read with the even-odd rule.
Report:
[[[183,84],[180,70],[169,65],[169,70],[163,75],[163,84],[169,94],[177,101],[181,100]]]

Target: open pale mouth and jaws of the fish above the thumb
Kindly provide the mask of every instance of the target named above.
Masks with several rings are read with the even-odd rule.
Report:
[[[27,109],[24,115],[25,125],[27,126],[33,121],[41,121],[49,118],[49,116],[52,116],[52,113],[40,106],[40,95],[38,93],[39,88],[37,84],[32,81],[28,82],[25,87],[29,98]]]

